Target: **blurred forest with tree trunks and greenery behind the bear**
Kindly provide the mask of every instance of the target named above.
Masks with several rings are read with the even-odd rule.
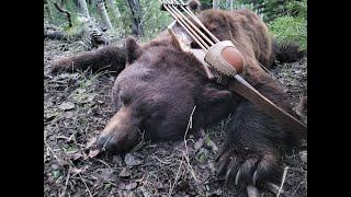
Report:
[[[307,48],[307,0],[201,0],[201,9],[256,11],[280,43]],[[44,0],[44,37],[94,48],[133,34],[149,40],[172,21],[158,0]]]

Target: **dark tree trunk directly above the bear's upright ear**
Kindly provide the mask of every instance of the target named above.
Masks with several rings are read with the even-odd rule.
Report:
[[[144,35],[141,25],[141,8],[139,0],[128,0],[129,9],[133,15],[132,34],[136,36]]]

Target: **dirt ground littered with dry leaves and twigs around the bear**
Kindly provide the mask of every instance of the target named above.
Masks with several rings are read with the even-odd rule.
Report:
[[[227,120],[207,129],[203,138],[186,140],[188,149],[184,141],[144,142],[126,155],[97,154],[94,141],[114,113],[114,78],[106,72],[52,76],[52,60],[87,47],[44,40],[44,196],[240,195],[215,176],[214,158]],[[271,72],[286,85],[294,106],[307,96],[307,58],[279,65]],[[284,157],[283,185],[267,187],[262,196],[276,196],[281,185],[280,196],[307,196],[306,149]]]

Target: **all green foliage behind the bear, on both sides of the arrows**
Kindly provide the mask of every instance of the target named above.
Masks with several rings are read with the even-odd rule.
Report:
[[[172,22],[172,18],[165,11],[160,10],[158,0],[139,0],[141,7],[141,24],[144,27],[144,37],[141,42],[149,40],[166,30]],[[186,1],[186,0],[185,0]],[[66,1],[64,5],[71,13],[73,27],[68,28],[66,15],[60,13],[55,7],[55,2],[60,0],[48,1],[49,9],[45,9],[46,21],[63,27],[68,34],[75,34],[81,28],[81,20],[79,18],[79,9],[73,1]],[[201,0],[203,8],[212,8],[212,0]],[[132,12],[126,0],[116,0],[116,4],[121,12],[121,18],[110,15],[115,32],[127,35],[132,30]],[[220,8],[226,8],[226,1],[222,0]],[[281,43],[297,42],[302,50],[306,50],[307,46],[307,0],[236,0],[234,8],[248,8],[252,10],[263,10],[263,21],[269,24],[271,33]],[[90,15],[98,20],[97,8],[88,4]],[[47,11],[50,10],[50,16]]]

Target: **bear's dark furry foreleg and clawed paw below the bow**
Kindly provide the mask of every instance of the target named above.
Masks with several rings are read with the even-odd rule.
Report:
[[[280,153],[288,146],[288,135],[252,103],[245,100],[228,125],[227,140],[217,155],[217,175],[227,185],[257,185],[275,182]]]

